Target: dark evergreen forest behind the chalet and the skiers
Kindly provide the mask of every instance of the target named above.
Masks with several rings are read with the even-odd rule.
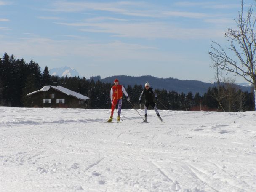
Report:
[[[46,66],[41,69],[35,61],[29,63],[24,59],[16,59],[7,53],[0,56],[0,106],[30,107],[26,95],[41,89],[45,85],[61,85],[77,93],[88,96],[88,108],[110,109],[110,88],[112,83],[101,80],[86,79],[85,77],[58,77],[49,75]],[[139,96],[143,89],[141,84],[125,85],[131,98],[131,103],[139,109]],[[155,92],[161,103],[158,109],[170,110],[200,110],[205,111],[246,111],[254,110],[253,93],[241,91],[236,86],[224,84],[223,86],[209,87],[203,95],[178,93],[176,90],[167,91],[158,86]],[[131,104],[124,96],[123,109],[131,109]]]

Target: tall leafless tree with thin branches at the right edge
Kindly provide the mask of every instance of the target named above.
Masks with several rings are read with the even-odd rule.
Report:
[[[254,85],[254,99],[256,110],[256,17],[253,6],[244,13],[244,3],[241,1],[241,11],[234,19],[237,29],[227,28],[225,36],[230,42],[229,47],[223,48],[219,43],[212,41],[209,55],[213,61],[211,67],[219,67],[236,76],[243,77]]]

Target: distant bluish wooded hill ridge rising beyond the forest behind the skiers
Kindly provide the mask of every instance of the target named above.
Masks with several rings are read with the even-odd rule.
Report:
[[[157,78],[150,75],[140,76],[140,77],[133,77],[133,76],[126,76],[126,75],[118,75],[118,76],[111,76],[107,78],[101,79],[99,76],[91,77],[93,80],[100,80],[104,82],[113,83],[115,78],[117,78],[120,84],[127,87],[128,85],[134,86],[142,85],[144,87],[145,83],[148,81],[150,86],[154,89],[165,89],[167,91],[176,91],[178,93],[188,93],[189,91],[192,92],[194,95],[195,93],[200,93],[203,95],[207,92],[209,87],[216,86],[212,83],[205,83],[202,81],[196,80],[179,80],[174,78]],[[251,87],[244,87],[237,85],[243,91],[251,92]]]

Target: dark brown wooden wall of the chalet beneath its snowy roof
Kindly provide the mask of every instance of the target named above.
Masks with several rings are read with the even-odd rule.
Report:
[[[54,94],[54,98],[53,95]],[[51,103],[43,103],[43,99],[51,99]],[[57,103],[57,99],[64,99],[65,103]],[[48,91],[40,91],[29,96],[31,107],[60,107],[60,108],[84,108],[85,104],[79,104],[80,99],[68,96],[60,91],[50,88]]]

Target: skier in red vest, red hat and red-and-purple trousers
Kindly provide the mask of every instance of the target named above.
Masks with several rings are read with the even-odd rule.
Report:
[[[110,99],[111,99],[112,106],[111,106],[111,114],[107,122],[112,122],[113,113],[117,103],[118,103],[117,121],[120,121],[123,93],[127,97],[127,101],[130,101],[130,97],[128,96],[128,93],[126,92],[123,85],[119,85],[118,79],[114,80],[114,84],[115,85],[110,89]]]

